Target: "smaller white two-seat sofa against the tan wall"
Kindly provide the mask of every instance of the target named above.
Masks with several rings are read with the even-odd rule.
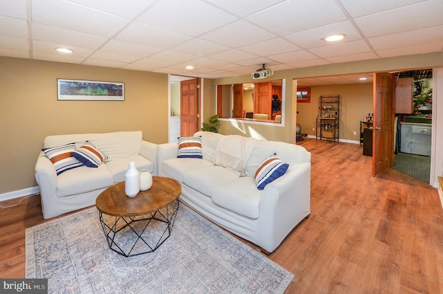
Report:
[[[86,141],[107,156],[96,168],[82,165],[57,176],[51,160],[40,152],[35,164],[35,179],[45,219],[94,205],[103,190],[125,181],[129,161],[135,161],[138,170],[148,169],[153,175],[157,174],[157,145],[144,141],[141,131],[48,136],[44,139],[44,148],[69,143],[80,147]]]

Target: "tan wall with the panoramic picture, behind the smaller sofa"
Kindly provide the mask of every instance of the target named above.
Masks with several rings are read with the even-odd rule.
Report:
[[[125,83],[125,101],[58,101],[57,78]],[[168,75],[0,57],[0,194],[37,185],[48,135],[143,131],[168,142]]]

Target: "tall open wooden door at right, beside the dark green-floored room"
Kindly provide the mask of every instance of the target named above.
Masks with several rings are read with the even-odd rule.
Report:
[[[374,73],[373,176],[392,167],[394,161],[394,89],[392,74]]]

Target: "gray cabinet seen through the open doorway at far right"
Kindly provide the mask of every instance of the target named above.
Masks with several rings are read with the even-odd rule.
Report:
[[[400,151],[431,156],[431,125],[401,123]]]

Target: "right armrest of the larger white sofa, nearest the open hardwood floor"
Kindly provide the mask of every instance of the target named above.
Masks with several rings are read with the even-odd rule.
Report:
[[[311,213],[311,163],[302,163],[264,187],[258,236],[269,252]]]

